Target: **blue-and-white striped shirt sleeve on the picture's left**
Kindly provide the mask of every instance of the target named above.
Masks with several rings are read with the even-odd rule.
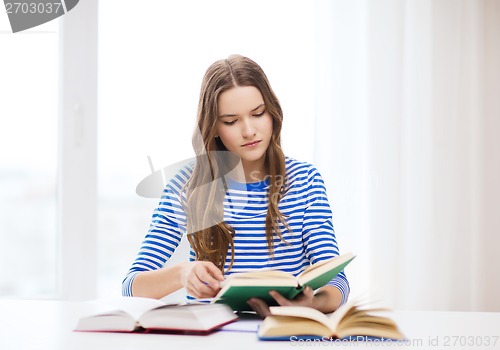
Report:
[[[139,272],[162,268],[170,259],[186,232],[186,213],[180,201],[182,173],[173,178],[154,210],[148,233],[139,253],[122,282],[122,295],[132,295],[132,283]]]

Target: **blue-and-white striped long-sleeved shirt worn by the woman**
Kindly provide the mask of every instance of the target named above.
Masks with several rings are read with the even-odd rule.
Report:
[[[124,296],[132,296],[132,283],[141,271],[160,269],[171,257],[186,232],[186,213],[180,193],[192,174],[184,168],[167,184],[153,213],[149,232],[122,283]],[[290,231],[280,224],[284,241],[275,237],[274,257],[268,253],[265,219],[269,180],[239,183],[227,180],[224,198],[224,220],[235,230],[234,262],[229,248],[225,274],[272,268],[298,275],[310,264],[339,255],[332,212],[326,189],[317,169],[311,164],[286,158],[287,190],[279,202]],[[195,260],[190,249],[190,260]],[[329,285],[342,293],[342,303],[349,295],[349,283],[342,271]],[[188,296],[189,299],[192,297]]]

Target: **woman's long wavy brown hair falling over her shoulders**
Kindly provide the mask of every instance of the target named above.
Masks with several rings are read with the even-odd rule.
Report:
[[[227,190],[224,175],[234,167],[234,158],[215,137],[218,98],[234,87],[254,86],[262,94],[266,111],[273,120],[273,133],[266,151],[265,167],[269,178],[266,241],[269,254],[274,255],[275,235],[283,240],[280,222],[289,229],[278,203],[285,191],[285,155],[281,149],[283,112],[262,68],[247,57],[232,55],[213,63],[203,78],[198,117],[193,134],[197,162],[186,193],[188,240],[196,260],[211,261],[224,272],[228,250],[234,262],[234,229],[224,222],[224,196]],[[226,152],[224,152],[226,151]]]

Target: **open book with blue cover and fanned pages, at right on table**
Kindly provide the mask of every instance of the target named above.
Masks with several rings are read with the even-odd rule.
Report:
[[[306,306],[270,307],[259,327],[261,340],[300,338],[366,338],[405,339],[396,323],[380,315],[383,308],[365,308],[354,300],[342,305],[331,315]]]

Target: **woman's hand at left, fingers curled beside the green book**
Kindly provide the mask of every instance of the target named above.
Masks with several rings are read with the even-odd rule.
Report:
[[[213,298],[224,281],[222,272],[209,261],[182,263],[181,284],[195,298]]]

